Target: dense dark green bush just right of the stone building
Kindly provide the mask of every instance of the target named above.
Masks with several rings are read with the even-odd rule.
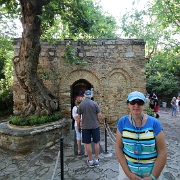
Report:
[[[146,64],[147,91],[156,92],[161,97],[171,97],[180,91],[180,53],[159,52]]]

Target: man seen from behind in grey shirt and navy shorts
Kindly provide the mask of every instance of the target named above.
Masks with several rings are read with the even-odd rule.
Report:
[[[101,109],[97,102],[92,101],[92,92],[90,90],[84,93],[85,100],[79,105],[78,119],[82,115],[82,141],[86,144],[88,154],[87,165],[89,167],[99,166],[99,141],[100,129],[99,121],[102,117]],[[91,137],[94,142],[95,159],[92,158]]]

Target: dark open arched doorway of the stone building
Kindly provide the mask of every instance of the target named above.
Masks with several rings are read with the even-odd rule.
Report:
[[[75,98],[78,96],[79,91],[85,92],[86,90],[91,90],[93,88],[93,85],[86,81],[85,79],[79,79],[73,83],[71,86],[71,111],[72,108],[75,105]],[[72,118],[72,113],[71,113],[71,119],[72,119],[72,129],[74,129],[74,119]]]

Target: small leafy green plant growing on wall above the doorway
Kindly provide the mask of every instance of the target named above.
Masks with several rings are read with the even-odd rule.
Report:
[[[76,54],[77,54],[76,51],[74,49],[72,49],[72,47],[69,43],[67,43],[65,54],[64,54],[65,62],[68,62],[70,64],[76,64],[79,66],[88,65],[87,62],[82,61]]]

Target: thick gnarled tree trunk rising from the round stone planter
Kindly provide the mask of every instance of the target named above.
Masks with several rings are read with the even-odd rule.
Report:
[[[41,51],[42,7],[50,0],[19,0],[22,11],[22,41],[19,56],[13,59],[17,79],[28,95],[28,105],[24,107],[22,116],[35,114],[50,115],[58,108],[58,100],[44,86],[38,77],[37,67]]]

